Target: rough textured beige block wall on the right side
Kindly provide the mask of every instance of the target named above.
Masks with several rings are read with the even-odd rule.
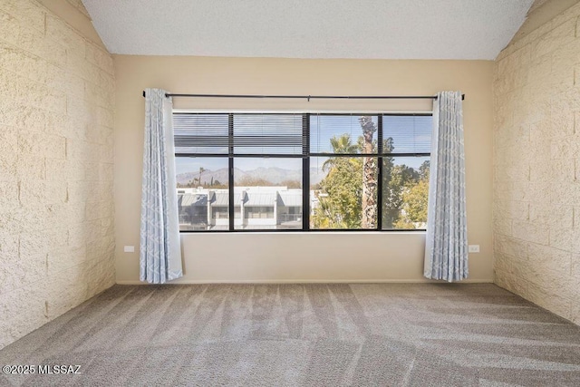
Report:
[[[494,71],[495,282],[580,323],[580,4],[499,54]],[[520,30],[520,31],[522,31]]]

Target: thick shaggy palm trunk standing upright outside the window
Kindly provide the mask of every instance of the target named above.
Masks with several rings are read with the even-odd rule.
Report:
[[[372,118],[359,119],[362,129],[362,153],[372,153],[372,136],[377,131]],[[375,228],[377,225],[377,159],[362,159],[362,228]]]

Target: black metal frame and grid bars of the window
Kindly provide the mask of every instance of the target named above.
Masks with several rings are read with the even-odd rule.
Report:
[[[174,114],[227,114],[228,117],[228,151],[227,153],[175,153],[175,157],[183,158],[227,158],[227,169],[228,169],[228,219],[229,219],[229,229],[219,229],[219,230],[179,230],[179,233],[189,234],[189,233],[295,233],[295,232],[372,232],[372,233],[389,233],[389,232],[425,232],[425,228],[382,228],[382,169],[383,169],[383,158],[401,158],[401,157],[428,157],[430,160],[430,152],[390,152],[382,153],[383,146],[383,120],[385,116],[404,116],[404,117],[417,117],[417,116],[429,116],[432,117],[432,111],[219,111],[219,110],[184,110],[184,109],[174,109],[172,111],[172,116]],[[275,114],[285,114],[285,115],[301,115],[303,122],[303,152],[302,154],[275,154],[275,153],[264,153],[264,154],[235,154],[234,153],[234,115],[236,114],[264,114],[264,115],[275,115]],[[329,116],[376,116],[377,117],[377,152],[376,153],[332,153],[332,152],[312,152],[310,151],[310,116],[311,115],[329,115]],[[377,158],[377,227],[376,228],[311,228],[310,227],[310,160],[315,157],[351,157],[351,158],[364,158],[364,157],[376,157]],[[302,228],[250,228],[241,229],[235,227],[235,206],[231,203],[234,202],[234,159],[239,158],[277,158],[277,159],[302,159]]]

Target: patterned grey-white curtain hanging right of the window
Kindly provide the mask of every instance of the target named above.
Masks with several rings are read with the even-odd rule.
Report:
[[[469,275],[460,92],[438,94],[431,144],[424,275],[459,281]]]

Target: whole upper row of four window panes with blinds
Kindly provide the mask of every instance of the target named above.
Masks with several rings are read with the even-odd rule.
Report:
[[[227,113],[174,113],[176,153],[227,155],[231,149],[234,155],[307,156],[309,153],[378,151],[381,128],[376,114],[236,113],[232,115],[232,138],[228,135],[229,116]],[[308,126],[310,137],[306,138]],[[429,153],[431,128],[430,115],[382,115],[383,152]],[[309,149],[305,149],[306,142],[310,143]]]

